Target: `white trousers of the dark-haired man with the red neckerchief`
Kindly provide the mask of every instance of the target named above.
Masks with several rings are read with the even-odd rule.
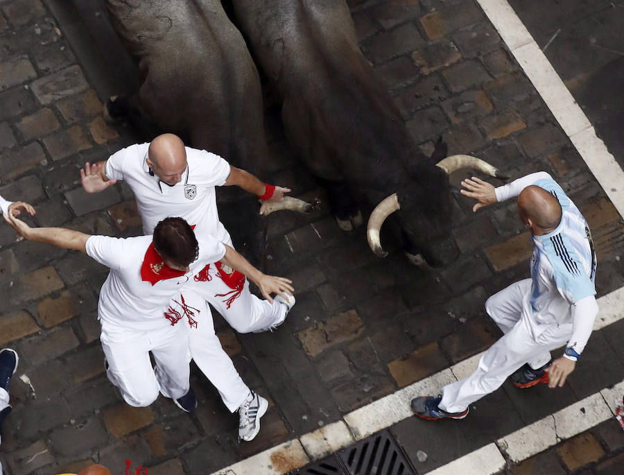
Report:
[[[171,399],[187,394],[191,361],[188,330],[184,321],[148,331],[103,323],[100,340],[109,366],[106,374],[130,406],[149,406],[159,392]],[[156,361],[155,370],[149,352]]]

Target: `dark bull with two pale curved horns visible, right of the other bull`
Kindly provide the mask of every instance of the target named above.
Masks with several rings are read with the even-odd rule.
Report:
[[[343,0],[232,0],[252,53],[282,103],[288,139],[323,180],[343,229],[361,221],[352,196],[371,205],[367,237],[384,257],[379,231],[395,213],[408,257],[449,264],[458,256],[451,239],[449,174],[463,167],[488,175],[489,164],[458,155],[425,157],[397,107],[365,60]],[[435,166],[437,165],[437,166]]]

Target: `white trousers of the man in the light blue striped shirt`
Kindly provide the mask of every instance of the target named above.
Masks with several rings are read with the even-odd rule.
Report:
[[[489,297],[485,311],[504,335],[479,360],[469,377],[444,386],[440,408],[449,413],[465,411],[469,404],[498,389],[510,374],[529,363],[537,369],[551,359],[550,351],[568,341],[572,323],[552,325],[535,336],[529,317],[523,316],[523,297],[531,291],[531,279],[521,280]]]

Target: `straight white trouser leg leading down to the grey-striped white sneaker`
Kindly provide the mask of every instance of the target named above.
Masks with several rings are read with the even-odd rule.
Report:
[[[234,368],[232,360],[223,351],[221,342],[214,333],[214,324],[206,301],[189,290],[184,291],[184,298],[188,305],[199,309],[200,312],[193,316],[196,325],[191,327],[184,320],[177,325],[189,325],[191,329],[189,343],[193,360],[218,390],[223,404],[230,412],[234,412],[247,399],[250,390]]]

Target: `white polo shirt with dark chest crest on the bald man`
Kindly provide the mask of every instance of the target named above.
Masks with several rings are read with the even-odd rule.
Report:
[[[178,216],[191,226],[196,225],[198,236],[212,234],[219,241],[232,245],[232,239],[219,221],[214,190],[229,176],[230,167],[225,159],[206,150],[185,147],[187,170],[182,181],[171,187],[150,172],[145,161],[149,145],[122,148],[110,156],[105,169],[107,178],[125,180],[135,193],[144,232],[152,234],[159,221]]]

